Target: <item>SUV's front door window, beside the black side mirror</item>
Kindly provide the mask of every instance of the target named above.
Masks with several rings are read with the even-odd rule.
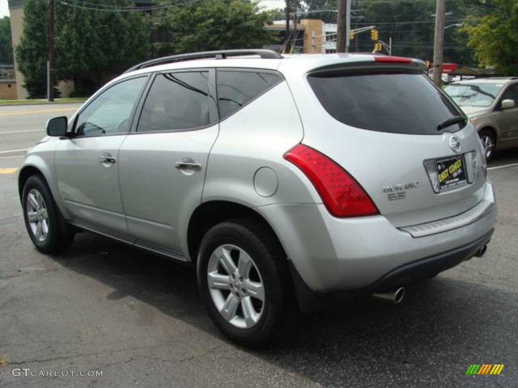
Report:
[[[130,131],[130,116],[147,77],[119,82],[98,95],[76,121],[77,136],[116,135]]]

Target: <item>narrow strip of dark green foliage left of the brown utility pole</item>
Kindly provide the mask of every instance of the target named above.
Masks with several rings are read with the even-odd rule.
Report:
[[[18,69],[25,79],[30,98],[47,93],[47,4],[45,0],[25,0],[20,43],[15,49]]]

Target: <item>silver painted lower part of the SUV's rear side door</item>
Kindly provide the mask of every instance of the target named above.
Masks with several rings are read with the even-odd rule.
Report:
[[[202,202],[210,148],[218,124],[196,131],[132,133],[121,147],[120,182],[128,232],[137,241],[188,255],[186,230]],[[185,158],[202,165],[185,172]]]

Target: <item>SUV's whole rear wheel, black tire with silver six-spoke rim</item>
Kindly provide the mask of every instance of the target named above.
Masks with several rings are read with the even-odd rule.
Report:
[[[210,229],[200,245],[197,277],[211,319],[238,344],[263,347],[288,329],[295,303],[284,252],[254,220]]]

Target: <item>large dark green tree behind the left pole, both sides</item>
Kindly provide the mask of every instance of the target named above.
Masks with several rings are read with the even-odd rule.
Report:
[[[95,8],[90,0],[90,8]],[[47,91],[47,4],[25,0],[24,24],[16,48],[17,62],[31,98]],[[98,1],[106,8],[107,2]],[[129,0],[108,5],[130,6]],[[76,94],[88,95],[110,77],[150,54],[148,16],[139,11],[107,12],[55,4],[56,81],[75,81]]]

